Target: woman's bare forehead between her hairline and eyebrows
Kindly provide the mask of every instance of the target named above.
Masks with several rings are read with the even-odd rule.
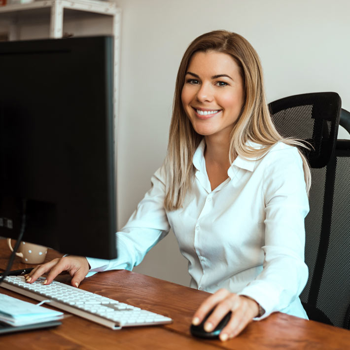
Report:
[[[196,52],[187,71],[196,74],[239,74],[240,68],[232,56],[217,51]]]

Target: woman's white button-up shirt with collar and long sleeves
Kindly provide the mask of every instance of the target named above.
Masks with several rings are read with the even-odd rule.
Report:
[[[131,270],[172,228],[189,262],[191,287],[211,293],[227,288],[249,296],[265,309],[263,317],[281,311],[307,318],[299,294],[308,278],[304,219],[309,202],[297,149],[279,142],[261,159],[238,156],[214,190],[204,150],[203,140],[193,157],[195,178],[182,208],[164,208],[163,165],[117,233],[118,258],[88,258],[90,271]]]

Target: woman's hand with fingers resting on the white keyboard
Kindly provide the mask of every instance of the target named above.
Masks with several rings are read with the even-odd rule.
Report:
[[[40,276],[48,273],[44,284],[50,284],[61,272],[67,271],[72,277],[70,284],[74,287],[78,287],[89,272],[89,269],[89,263],[84,256],[69,255],[36,266],[25,276],[25,279],[28,283],[33,283]]]

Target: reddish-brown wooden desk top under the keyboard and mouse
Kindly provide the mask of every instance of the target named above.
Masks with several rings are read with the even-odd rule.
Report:
[[[0,270],[9,258],[5,240],[0,240]],[[47,260],[59,254],[50,250]],[[16,258],[13,270],[30,265]],[[61,276],[68,280],[68,276]],[[113,331],[78,316],[69,316],[56,328],[0,336],[0,349],[198,349],[198,350],[346,350],[350,331],[275,313],[252,322],[237,338],[227,342],[200,340],[189,333],[193,313],[208,293],[129,271],[98,273],[81,282],[80,288],[119,300],[174,319],[164,326],[132,327]],[[32,301],[7,289],[16,298]]]

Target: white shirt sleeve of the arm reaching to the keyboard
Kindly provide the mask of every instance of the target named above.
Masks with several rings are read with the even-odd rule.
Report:
[[[150,190],[145,194],[127,224],[116,233],[118,257],[112,260],[87,257],[90,264],[88,277],[100,271],[132,270],[134,266],[140,264],[146,253],[170,230],[164,199],[163,166],[152,176]]]

